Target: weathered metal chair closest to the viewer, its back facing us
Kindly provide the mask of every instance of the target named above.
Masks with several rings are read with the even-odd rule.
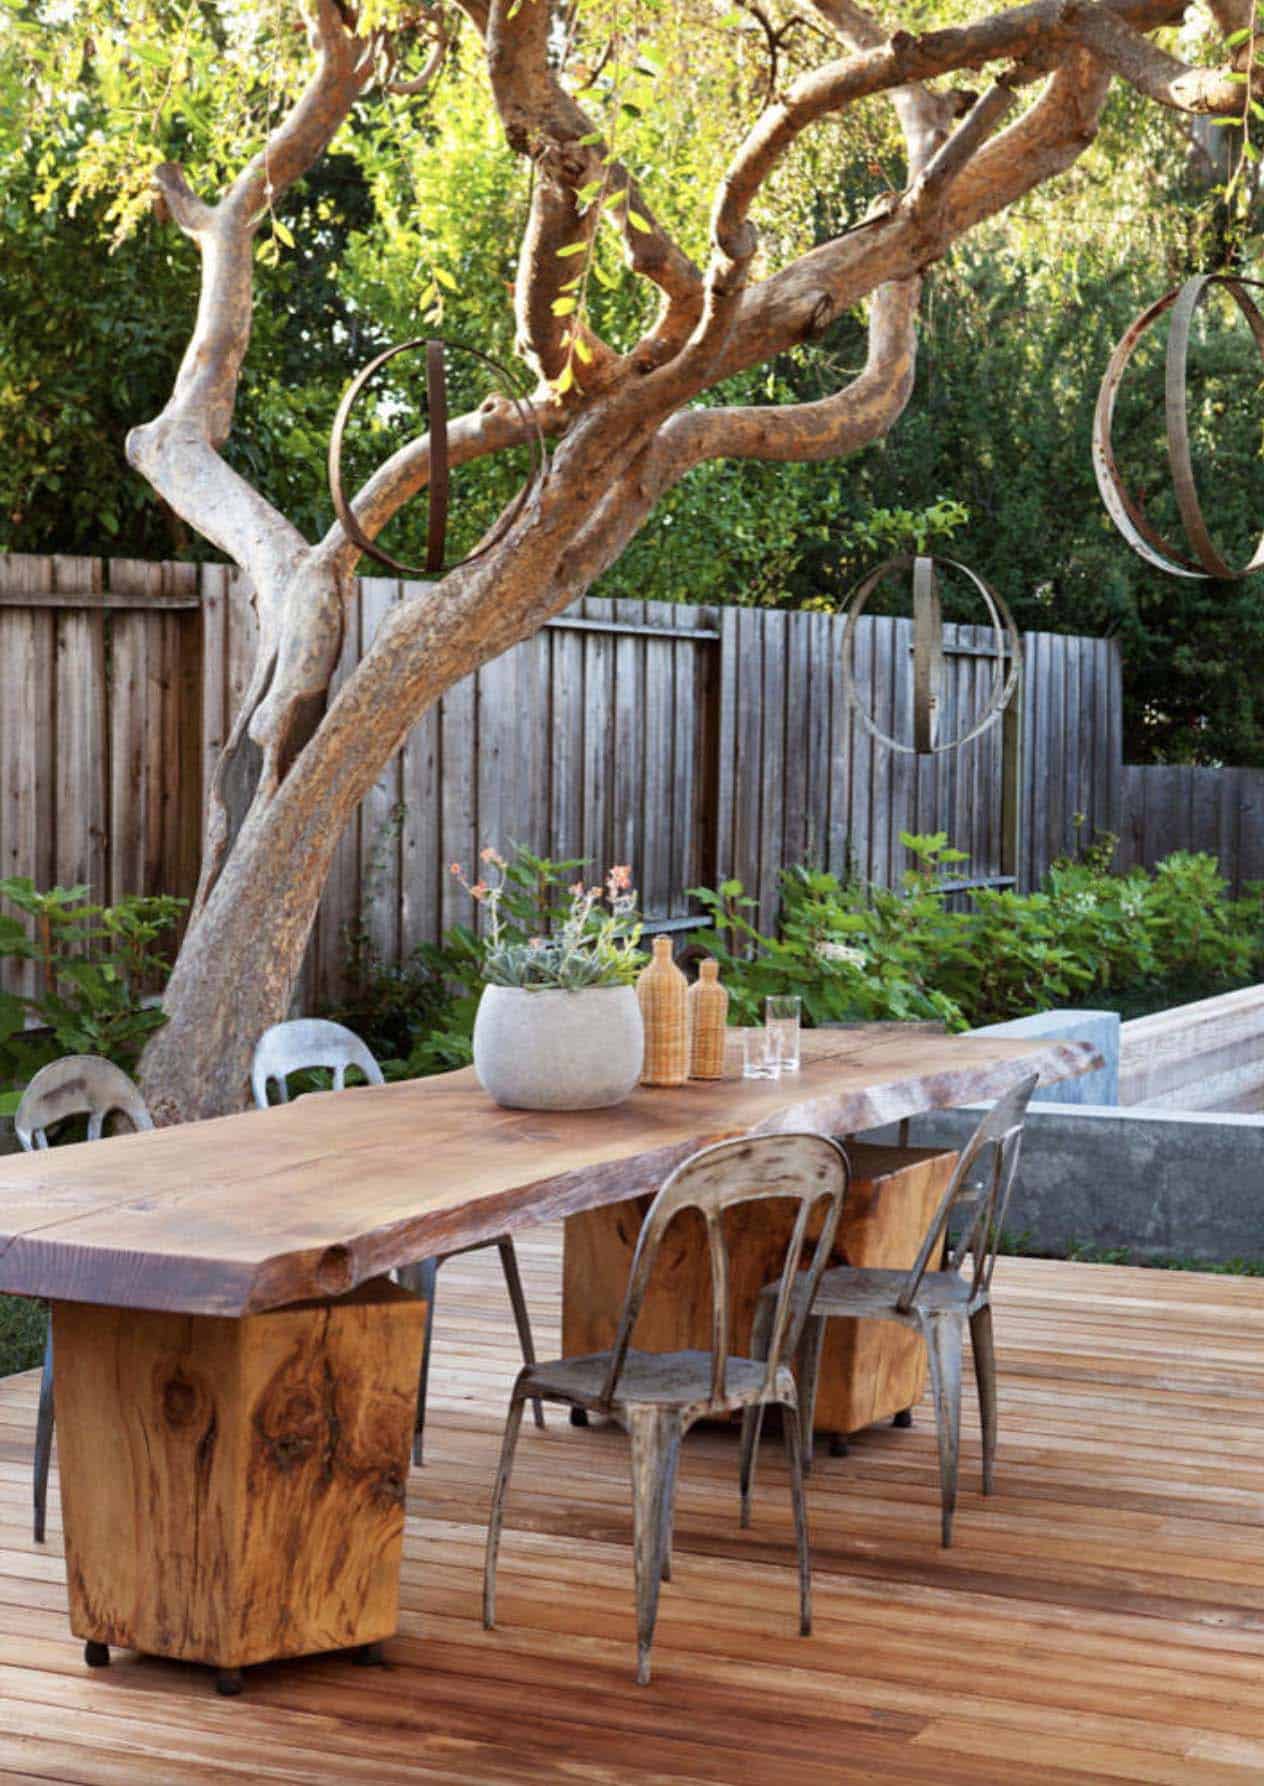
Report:
[[[800,1632],[811,1634],[812,1570],[803,1504],[798,1395],[794,1373],[784,1359],[794,1352],[798,1332],[812,1302],[812,1289],[830,1256],[846,1184],[846,1154],[837,1141],[821,1134],[775,1134],[721,1141],[718,1147],[707,1147],[694,1154],[671,1173],[650,1204],[641,1225],[614,1347],[589,1357],[561,1357],[548,1365],[527,1365],[518,1375],[509,1402],[500,1470],[496,1472],[487,1522],[487,1561],[482,1588],[482,1622],[487,1631],[496,1623],[496,1554],[523,1404],[532,1397],[543,1397],[546,1402],[564,1402],[571,1407],[609,1415],[632,1441],[636,1677],[641,1686],[650,1679],[659,1582],[671,1579],[671,1520],[680,1441],[696,1420],[737,1409],[750,1418],[753,1409],[762,1413],[768,1404],[780,1406],[794,1502]],[[755,1363],[730,1354],[732,1297],[723,1214],[734,1204],[762,1198],[793,1200],[798,1204],[798,1213],[786,1248],[780,1291],[768,1323],[766,1356],[762,1363]],[[803,1273],[803,1293],[794,1297],[807,1223],[821,1204],[825,1206],[823,1222],[812,1263]],[[637,1352],[632,1348],[632,1329],[650,1286],[659,1247],[671,1222],[686,1209],[700,1211],[707,1223],[711,1352]],[[746,1523],[748,1497],[750,1479],[743,1482],[743,1523]]]

